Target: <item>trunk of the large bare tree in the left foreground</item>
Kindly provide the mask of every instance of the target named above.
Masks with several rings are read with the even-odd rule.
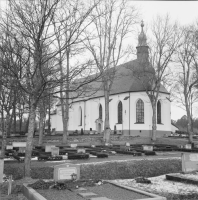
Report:
[[[32,154],[32,145],[33,145],[33,135],[34,135],[34,126],[35,126],[35,118],[36,118],[36,105],[35,101],[32,98],[30,100],[30,113],[29,113],[29,126],[28,126],[28,136],[27,136],[27,144],[25,151],[25,177],[30,177],[30,165],[31,165],[31,154]]]

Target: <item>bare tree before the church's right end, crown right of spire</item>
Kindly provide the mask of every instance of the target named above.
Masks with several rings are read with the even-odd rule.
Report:
[[[142,25],[143,27],[143,25]],[[152,24],[152,38],[150,44],[150,55],[139,60],[140,67],[135,69],[133,76],[140,81],[147,93],[153,111],[152,117],[152,140],[156,140],[157,129],[157,102],[160,92],[164,86],[162,83],[168,82],[170,67],[174,53],[180,40],[177,23],[171,23],[169,16],[158,16]],[[143,44],[148,47],[146,36],[143,32]]]

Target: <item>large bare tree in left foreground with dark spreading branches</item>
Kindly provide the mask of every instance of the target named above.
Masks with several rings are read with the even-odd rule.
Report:
[[[29,99],[25,156],[25,176],[28,177],[30,176],[36,109],[40,100],[45,97],[46,90],[58,93],[60,90],[54,92],[54,89],[60,86],[60,82],[66,80],[66,76],[60,77],[59,62],[56,57],[61,51],[68,48],[68,43],[65,41],[60,44],[59,48],[56,48],[56,34],[52,27],[54,23],[57,27],[61,25],[59,20],[56,21],[56,12],[62,6],[60,0],[10,0],[9,2],[10,9],[6,19],[0,23],[0,29],[6,35],[3,40],[7,44],[5,47],[0,44],[0,51],[5,55],[0,58],[0,62],[5,63],[4,70],[10,77],[14,77],[18,87],[27,94],[27,99]],[[71,12],[71,14],[73,13]],[[67,20],[67,18],[63,20]],[[7,27],[10,29],[9,32]],[[65,33],[65,29],[59,31],[61,31],[60,36]],[[7,65],[6,62],[10,62],[10,65]],[[49,62],[53,64],[48,65]],[[83,67],[81,71],[73,71],[72,76],[81,74],[82,71]],[[78,84],[75,89],[89,81]]]

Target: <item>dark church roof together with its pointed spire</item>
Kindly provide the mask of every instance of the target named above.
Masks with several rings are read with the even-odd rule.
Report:
[[[106,71],[110,75],[111,73],[113,74],[113,82],[110,95],[126,92],[143,92],[146,90],[151,90],[151,86],[149,86],[149,78],[154,77],[155,70],[150,66],[148,61],[149,47],[146,42],[147,38],[146,34],[144,33],[143,27],[144,24],[142,21],[141,33],[138,37],[137,59],[116,67],[112,67],[108,71]],[[92,75],[91,78],[93,78],[94,76],[95,75]],[[80,79],[75,81],[75,83],[80,84],[80,82],[83,82],[84,80],[85,79]],[[73,101],[104,97],[102,77],[97,81],[93,81],[87,84],[83,89],[83,94],[78,98],[75,98],[78,96],[77,93],[70,94],[70,97],[74,97]],[[169,94],[163,85],[160,86],[160,92]]]

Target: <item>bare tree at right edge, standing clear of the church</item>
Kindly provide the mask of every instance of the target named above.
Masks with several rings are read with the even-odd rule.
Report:
[[[197,49],[195,48],[195,28],[182,27],[182,39],[177,50],[177,76],[175,96],[177,101],[185,108],[187,114],[187,130],[189,142],[193,142],[193,104],[197,102]]]

